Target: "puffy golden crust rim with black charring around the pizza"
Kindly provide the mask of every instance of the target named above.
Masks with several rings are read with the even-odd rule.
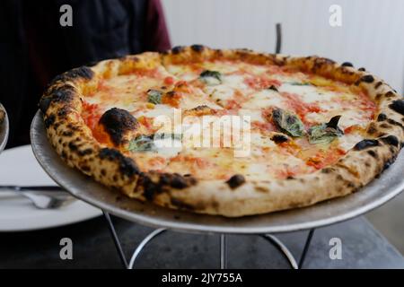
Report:
[[[192,175],[143,172],[136,161],[118,149],[98,143],[81,117],[83,93],[94,91],[101,79],[127,74],[136,68],[198,62],[209,59],[242,60],[255,64],[297,67],[361,87],[378,105],[377,117],[367,127],[369,139],[356,143],[337,163],[311,174],[286,179],[246,180],[236,174],[227,181],[198,180]],[[353,193],[364,187],[395,160],[404,140],[404,100],[387,83],[351,64],[339,65],[323,57],[288,57],[247,49],[211,49],[200,45],[176,47],[82,66],[57,76],[40,100],[50,143],[66,163],[101,184],[125,195],[195,213],[229,217],[269,213],[306,206]],[[119,146],[136,126],[136,118],[122,110],[102,118],[114,127]],[[118,132],[117,132],[118,131]]]

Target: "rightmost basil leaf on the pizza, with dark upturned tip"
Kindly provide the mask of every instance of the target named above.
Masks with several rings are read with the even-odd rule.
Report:
[[[344,132],[338,127],[341,116],[332,117],[327,124],[312,126],[309,129],[309,143],[331,143]]]

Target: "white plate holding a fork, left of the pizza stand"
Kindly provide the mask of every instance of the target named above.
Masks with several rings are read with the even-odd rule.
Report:
[[[35,159],[31,145],[0,154],[0,185],[56,185]],[[0,231],[40,230],[62,226],[101,215],[101,210],[83,201],[59,209],[40,210],[29,199],[0,191]]]

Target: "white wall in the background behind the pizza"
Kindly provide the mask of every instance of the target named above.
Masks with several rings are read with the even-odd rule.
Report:
[[[173,45],[253,48],[273,52],[275,23],[285,54],[319,55],[404,84],[403,0],[162,0]],[[329,6],[342,7],[342,27]]]

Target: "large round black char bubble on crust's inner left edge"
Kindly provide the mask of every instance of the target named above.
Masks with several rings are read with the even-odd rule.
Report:
[[[111,141],[119,145],[123,142],[125,133],[136,129],[139,124],[126,109],[112,108],[101,116],[100,125],[104,126]]]

